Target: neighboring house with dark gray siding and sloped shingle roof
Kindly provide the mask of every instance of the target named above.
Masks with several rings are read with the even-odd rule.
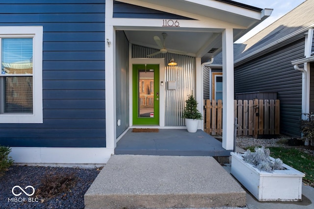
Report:
[[[235,94],[277,92],[280,132],[300,137],[302,113],[314,112],[314,0],[234,45]]]

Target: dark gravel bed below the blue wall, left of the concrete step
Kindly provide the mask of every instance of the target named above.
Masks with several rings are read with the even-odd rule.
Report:
[[[75,186],[52,198],[41,198],[38,188],[41,179],[46,173],[73,174],[76,176]],[[0,177],[0,209],[84,209],[84,194],[93,183],[100,169],[83,169],[69,167],[44,167],[44,166],[18,166],[14,165]],[[53,183],[53,182],[52,182]],[[33,186],[35,194],[27,196],[20,188],[15,188],[14,196],[12,188],[21,186],[26,193],[31,194]],[[35,199],[39,197],[38,199]],[[16,198],[16,199],[14,199]],[[46,199],[42,202],[42,199]]]

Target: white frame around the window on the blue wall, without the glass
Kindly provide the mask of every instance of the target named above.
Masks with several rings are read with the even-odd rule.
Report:
[[[33,38],[33,113],[0,114],[0,123],[43,123],[43,26],[0,26],[1,38]]]

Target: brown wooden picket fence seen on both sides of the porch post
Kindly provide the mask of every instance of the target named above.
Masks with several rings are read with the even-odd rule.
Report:
[[[222,101],[204,101],[204,130],[210,135],[222,135]],[[276,100],[235,100],[237,135],[258,135],[280,133],[280,101]]]

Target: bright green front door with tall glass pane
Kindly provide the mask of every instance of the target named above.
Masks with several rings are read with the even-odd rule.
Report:
[[[159,125],[159,65],[133,65],[133,125]]]

